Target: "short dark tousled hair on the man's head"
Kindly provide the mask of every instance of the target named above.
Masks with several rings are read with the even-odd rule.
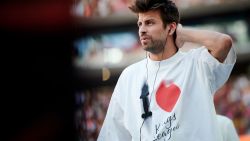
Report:
[[[171,22],[175,22],[176,24],[180,22],[178,8],[171,0],[135,0],[134,4],[131,5],[129,9],[134,13],[160,10],[164,27]]]

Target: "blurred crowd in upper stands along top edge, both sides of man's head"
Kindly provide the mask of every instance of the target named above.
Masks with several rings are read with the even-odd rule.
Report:
[[[83,17],[106,17],[128,11],[132,0],[77,0],[75,14]],[[173,0],[179,8],[223,4],[236,0]],[[241,0],[247,1],[247,0]]]

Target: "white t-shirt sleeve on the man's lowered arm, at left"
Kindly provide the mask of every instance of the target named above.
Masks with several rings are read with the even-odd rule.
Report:
[[[97,141],[131,141],[131,135],[124,125],[124,109],[119,97],[124,92],[121,79],[122,77],[119,78],[112,94]]]

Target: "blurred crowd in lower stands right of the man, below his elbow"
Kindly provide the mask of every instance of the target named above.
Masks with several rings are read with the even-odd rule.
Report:
[[[217,113],[233,120],[239,135],[250,134],[250,81],[245,75],[231,76],[215,97]]]

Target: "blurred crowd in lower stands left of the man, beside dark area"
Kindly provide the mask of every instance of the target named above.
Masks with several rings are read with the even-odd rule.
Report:
[[[75,121],[79,141],[96,141],[112,92],[112,87],[100,87],[76,94]]]

